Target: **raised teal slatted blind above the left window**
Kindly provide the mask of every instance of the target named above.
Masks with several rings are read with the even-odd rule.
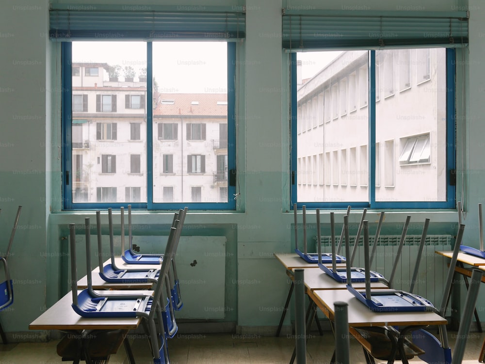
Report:
[[[157,7],[152,11],[141,5],[116,7],[112,10],[97,6],[72,5],[66,9],[49,11],[51,39],[79,38],[208,38],[238,39],[245,36],[244,9],[216,9],[184,11],[185,7]],[[177,8],[179,9],[177,11]]]

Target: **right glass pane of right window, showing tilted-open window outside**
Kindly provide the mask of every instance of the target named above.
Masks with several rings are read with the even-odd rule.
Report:
[[[446,201],[446,51],[380,53],[384,82],[390,68],[400,88],[408,89],[376,104],[376,142],[385,146],[384,185],[376,186],[376,201]],[[387,63],[391,59],[393,66]],[[385,85],[385,96],[388,91]]]

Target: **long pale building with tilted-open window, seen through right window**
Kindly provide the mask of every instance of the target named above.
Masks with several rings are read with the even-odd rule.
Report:
[[[367,51],[298,86],[298,200],[369,200]],[[376,51],[376,201],[446,200],[445,50]]]

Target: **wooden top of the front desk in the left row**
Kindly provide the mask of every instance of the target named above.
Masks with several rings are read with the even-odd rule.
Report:
[[[152,293],[152,291],[149,291]],[[146,294],[147,291],[103,291],[103,294]],[[117,330],[136,329],[141,322],[140,317],[124,318],[86,318],[79,316],[72,308],[72,293],[67,293],[46,312],[37,317],[29,325],[29,330]]]

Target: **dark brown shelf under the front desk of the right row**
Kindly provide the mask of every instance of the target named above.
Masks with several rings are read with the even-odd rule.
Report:
[[[397,342],[397,339],[393,342],[389,338],[384,328],[356,329],[351,327],[349,331],[372,357],[379,360],[388,360]],[[404,339],[404,353],[406,359],[409,360],[415,356],[424,354],[424,351],[411,341]],[[395,360],[401,360],[399,351],[396,352]]]

